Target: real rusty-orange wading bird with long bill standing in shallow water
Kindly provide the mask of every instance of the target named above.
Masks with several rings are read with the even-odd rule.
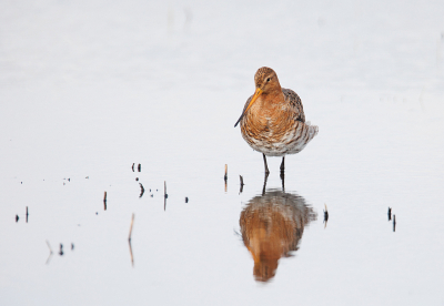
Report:
[[[265,173],[266,156],[282,156],[281,171],[285,169],[285,155],[301,152],[317,134],[317,126],[305,123],[304,110],[299,95],[282,89],[273,69],[263,67],[254,75],[255,93],[249,98],[238,123],[243,139],[262,153]]]

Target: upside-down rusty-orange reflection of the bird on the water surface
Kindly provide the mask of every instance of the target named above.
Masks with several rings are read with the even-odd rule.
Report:
[[[304,226],[316,213],[303,197],[271,190],[250,200],[240,217],[242,239],[254,259],[256,280],[274,277],[278,261],[297,251]]]

